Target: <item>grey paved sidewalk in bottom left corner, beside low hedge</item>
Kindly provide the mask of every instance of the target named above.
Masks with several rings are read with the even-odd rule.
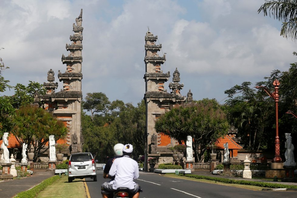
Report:
[[[0,181],[0,197],[10,198],[54,176],[54,171],[34,171],[31,177]]]

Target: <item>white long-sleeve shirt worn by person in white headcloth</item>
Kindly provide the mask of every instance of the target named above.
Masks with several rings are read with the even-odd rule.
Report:
[[[109,170],[109,175],[115,175],[112,185],[113,189],[118,189],[119,187],[134,189],[135,183],[133,179],[139,177],[138,164],[134,159],[124,155],[114,160]]]

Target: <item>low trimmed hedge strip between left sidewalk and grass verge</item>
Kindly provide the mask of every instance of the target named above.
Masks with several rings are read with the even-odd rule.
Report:
[[[50,177],[50,178],[44,180],[43,182],[41,182],[40,184],[38,184],[37,186],[34,186],[33,188],[31,188],[27,191],[17,194],[15,197],[17,197],[17,198],[34,198],[34,197],[36,197],[36,195],[38,193],[40,193],[42,190],[44,190],[47,186],[50,186],[51,184],[53,184],[58,179],[60,179],[60,177],[58,175]]]

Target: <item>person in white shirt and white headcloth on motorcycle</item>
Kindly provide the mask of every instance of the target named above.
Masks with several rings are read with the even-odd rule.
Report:
[[[133,194],[133,198],[139,197],[139,191],[141,187],[133,181],[139,177],[138,164],[134,159],[131,159],[130,156],[133,151],[133,146],[131,144],[126,144],[123,147],[123,157],[117,158],[112,163],[111,169],[109,171],[110,176],[115,176],[113,182],[103,183],[102,184],[102,197],[107,198],[109,191],[106,193],[106,189],[112,188],[113,190],[118,189],[119,187],[125,187],[130,189],[130,193]]]

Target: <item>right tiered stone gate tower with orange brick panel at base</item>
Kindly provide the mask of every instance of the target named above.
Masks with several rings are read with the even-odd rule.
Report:
[[[180,104],[186,101],[186,97],[180,94],[183,84],[179,84],[179,71],[173,73],[173,83],[169,84],[171,93],[164,88],[164,83],[169,80],[170,72],[163,73],[161,65],[165,63],[166,57],[159,56],[158,52],[162,48],[162,44],[156,45],[158,36],[154,36],[151,32],[145,35],[145,104],[146,104],[146,133],[145,134],[145,159],[147,156],[159,157],[159,161],[166,162],[168,147],[175,145],[176,141],[168,136],[157,134],[154,126],[155,120],[169,110],[169,106]],[[172,155],[171,155],[172,156]],[[172,159],[170,157],[170,159]],[[172,162],[172,160],[171,160]],[[147,165],[145,163],[145,165]],[[146,167],[147,168],[147,167]],[[147,169],[146,169],[147,170]]]

